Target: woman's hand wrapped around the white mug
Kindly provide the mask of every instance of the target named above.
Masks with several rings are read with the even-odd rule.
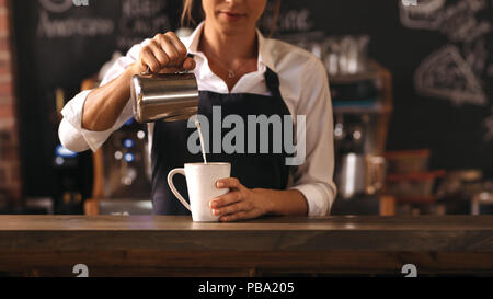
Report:
[[[229,177],[216,183],[230,192],[210,200],[213,214],[222,222],[257,218],[270,211],[270,198],[264,189],[249,189],[238,179]]]

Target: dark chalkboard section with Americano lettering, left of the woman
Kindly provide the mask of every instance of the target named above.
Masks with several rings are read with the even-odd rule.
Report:
[[[179,0],[12,1],[23,189],[51,196],[58,140],[55,90],[67,101],[116,50],[179,25]],[[76,5],[78,4],[78,5]],[[87,4],[87,5],[85,5]],[[88,153],[81,163],[91,163]],[[90,179],[88,179],[90,180]]]

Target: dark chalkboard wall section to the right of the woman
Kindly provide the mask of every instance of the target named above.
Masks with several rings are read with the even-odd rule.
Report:
[[[277,33],[368,34],[369,56],[393,76],[388,150],[429,148],[432,168],[491,174],[492,5],[486,0],[290,0],[283,1]]]

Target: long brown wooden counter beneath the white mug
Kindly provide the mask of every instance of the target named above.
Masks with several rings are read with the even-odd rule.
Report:
[[[493,216],[0,216],[0,276],[493,275]]]

